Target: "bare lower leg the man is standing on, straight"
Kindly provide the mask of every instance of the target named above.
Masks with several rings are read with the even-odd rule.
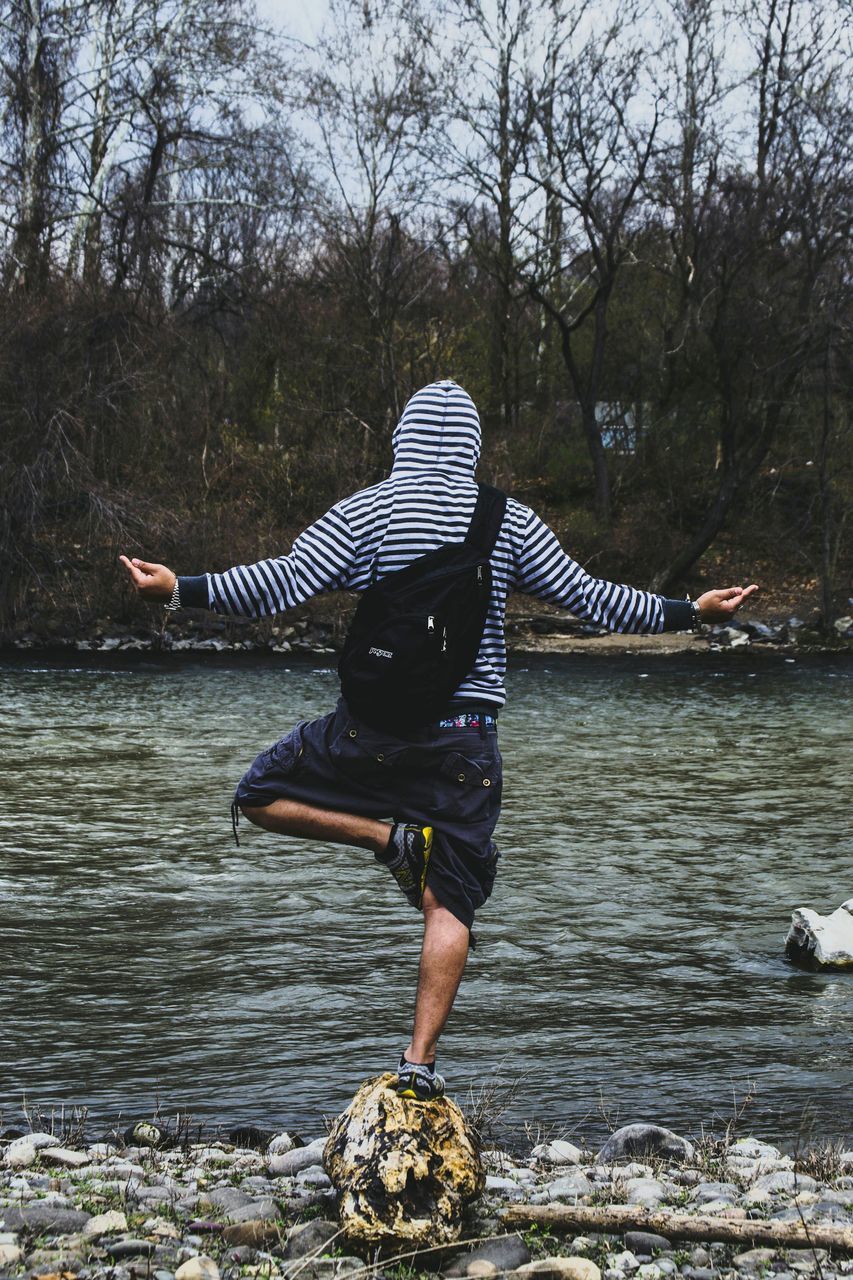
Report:
[[[409,1062],[432,1062],[438,1037],[453,1007],[467,960],[469,932],[452,911],[442,906],[428,887],[424,893],[424,945],[418,973],[415,1029],[405,1057]]]

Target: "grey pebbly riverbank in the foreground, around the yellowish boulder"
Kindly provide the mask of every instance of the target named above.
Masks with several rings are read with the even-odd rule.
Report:
[[[620,1130],[620,1134],[622,1130]],[[658,1130],[666,1133],[666,1130]],[[631,1158],[612,1135],[594,1153],[547,1139],[483,1152],[485,1192],[461,1240],[382,1261],[351,1245],[323,1167],[321,1133],[301,1143],[257,1128],[205,1137],[188,1124],[140,1123],[124,1133],[79,1129],[0,1138],[0,1276],[47,1280],[410,1280],[512,1275],[517,1280],[820,1280],[853,1274],[825,1248],[753,1248],[648,1231],[507,1229],[508,1206],[669,1208],[726,1222],[792,1222],[808,1233],[853,1228],[853,1149],[783,1155],[763,1142],[669,1135],[658,1156]]]

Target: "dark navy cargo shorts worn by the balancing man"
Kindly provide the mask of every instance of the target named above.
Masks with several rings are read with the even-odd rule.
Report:
[[[234,805],[263,808],[286,797],[433,827],[426,883],[470,929],[494,884],[501,780],[496,728],[430,726],[401,739],[369,728],[341,699],[329,716],[301,721],[261,751],[240,780]]]

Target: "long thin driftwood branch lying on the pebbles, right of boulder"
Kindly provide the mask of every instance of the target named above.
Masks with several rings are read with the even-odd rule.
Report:
[[[654,1231],[675,1240],[721,1240],[726,1244],[768,1244],[788,1249],[818,1248],[853,1253],[853,1228],[820,1226],[813,1222],[767,1222],[753,1219],[738,1221],[730,1217],[635,1208],[633,1204],[610,1208],[512,1204],[502,1210],[500,1217],[507,1226],[535,1224],[556,1231],[602,1231],[612,1235]]]

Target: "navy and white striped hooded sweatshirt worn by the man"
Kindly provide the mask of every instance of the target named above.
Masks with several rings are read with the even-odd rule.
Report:
[[[268,617],[321,591],[364,591],[442,543],[461,543],[476,502],[480,454],[480,420],[470,396],[453,381],[424,387],[406,404],[392,444],[391,475],[337,502],[300,534],[287,556],[181,577],[181,603]],[[503,616],[511,590],[562,605],[611,631],[675,631],[692,625],[685,600],[590,577],[535,512],[510,498],[492,553],[483,641],[455,701],[493,707],[506,701]]]

